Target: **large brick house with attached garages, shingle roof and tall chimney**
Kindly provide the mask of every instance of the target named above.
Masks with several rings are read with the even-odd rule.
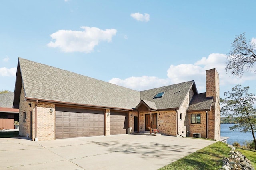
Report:
[[[128,129],[220,140],[215,69],[206,70],[206,93],[198,94],[194,81],[138,92],[19,58],[14,108],[20,109],[20,135],[32,140],[123,134]]]

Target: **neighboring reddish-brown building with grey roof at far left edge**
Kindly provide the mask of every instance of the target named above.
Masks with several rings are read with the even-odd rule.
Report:
[[[14,92],[0,94],[0,128],[14,129],[14,121],[19,121],[19,109],[13,109]]]

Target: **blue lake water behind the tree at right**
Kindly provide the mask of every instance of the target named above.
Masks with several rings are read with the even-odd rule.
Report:
[[[243,145],[244,141],[253,140],[252,132],[240,132],[240,131],[230,131],[229,128],[235,124],[220,124],[220,136],[230,137],[228,139],[228,144],[232,145],[234,142]]]

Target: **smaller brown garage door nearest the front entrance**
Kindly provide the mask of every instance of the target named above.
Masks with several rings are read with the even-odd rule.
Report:
[[[126,134],[128,113],[110,111],[110,135]]]

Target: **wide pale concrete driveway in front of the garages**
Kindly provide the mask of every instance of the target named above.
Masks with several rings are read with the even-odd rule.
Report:
[[[156,170],[215,141],[110,135],[30,141],[0,138],[0,169]]]

